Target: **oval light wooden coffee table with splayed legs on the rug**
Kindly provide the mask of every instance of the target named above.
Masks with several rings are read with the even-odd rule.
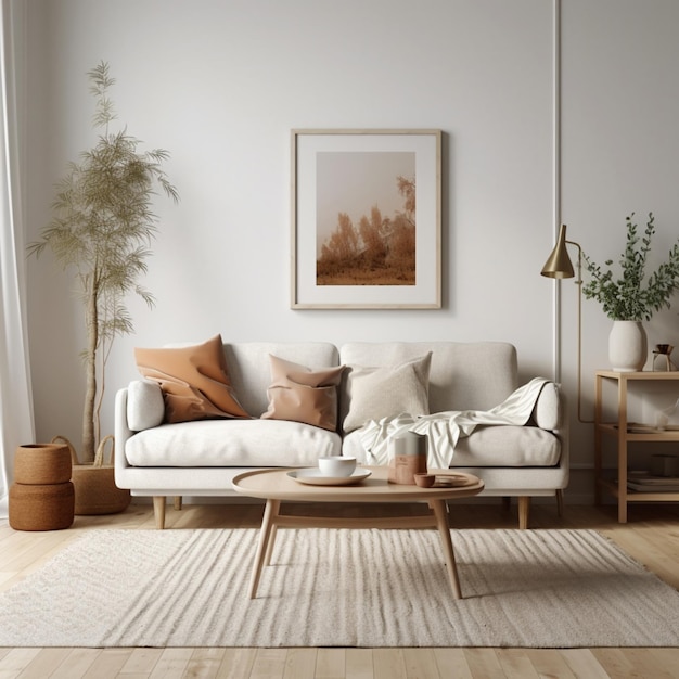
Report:
[[[450,470],[431,470],[437,475],[437,483],[432,488],[390,484],[387,481],[388,467],[360,466],[357,470],[370,472],[370,476],[353,485],[308,485],[291,476],[299,470],[257,470],[245,472],[233,479],[238,492],[267,501],[259,543],[249,585],[249,598],[257,595],[262,566],[269,565],[277,528],[438,528],[444,550],[444,559],[450,586],[456,599],[461,599],[460,580],[454,561],[452,540],[448,527],[446,501],[477,495],[484,488],[484,482],[460,472]],[[449,481],[449,485],[443,482]],[[430,512],[415,516],[386,516],[345,518],[335,516],[291,516],[281,514],[282,502],[383,502],[406,503],[426,502]]]

